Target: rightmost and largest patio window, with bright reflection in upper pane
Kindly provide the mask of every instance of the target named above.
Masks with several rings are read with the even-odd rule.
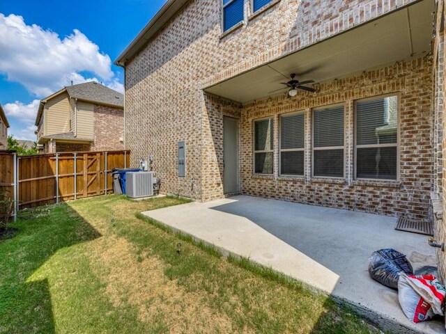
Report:
[[[398,97],[355,104],[356,178],[397,180]]]

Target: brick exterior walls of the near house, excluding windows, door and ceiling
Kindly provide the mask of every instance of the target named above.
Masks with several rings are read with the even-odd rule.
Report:
[[[132,150],[132,166],[139,166],[141,157],[152,155],[153,169],[162,177],[165,192],[197,200],[222,198],[222,127],[223,116],[228,115],[240,118],[242,193],[429,219],[430,192],[444,191],[446,182],[446,165],[438,168],[446,154],[444,74],[443,66],[431,56],[351,75],[323,84],[321,93],[300,94],[291,100],[281,96],[241,105],[203,93],[203,88],[414,2],[282,0],[253,15],[249,1],[245,1],[245,22],[230,33],[222,33],[221,1],[189,1],[126,63],[125,139],[126,148]],[[439,6],[443,7],[443,0]],[[440,48],[444,52],[442,45]],[[434,90],[434,83],[442,89]],[[397,93],[401,100],[400,180],[354,180],[353,103],[385,93]],[[311,177],[309,131],[312,109],[332,103],[345,106],[346,176],[342,180],[315,180]],[[305,111],[306,117],[305,176],[279,177],[277,120],[281,113],[298,110]],[[263,116],[275,118],[275,173],[271,176],[253,175],[252,170],[252,121]],[[178,177],[177,150],[182,140],[186,143],[186,177]],[[437,223],[436,228],[438,239],[445,240],[444,223]]]

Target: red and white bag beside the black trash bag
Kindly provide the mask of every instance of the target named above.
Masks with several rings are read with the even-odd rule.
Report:
[[[433,275],[413,276],[401,273],[398,280],[398,299],[406,317],[415,323],[444,315],[446,290]]]

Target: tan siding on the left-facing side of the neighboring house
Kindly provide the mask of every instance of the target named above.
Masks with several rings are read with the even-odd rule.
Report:
[[[45,104],[45,136],[70,131],[70,102],[68,94],[57,95]]]

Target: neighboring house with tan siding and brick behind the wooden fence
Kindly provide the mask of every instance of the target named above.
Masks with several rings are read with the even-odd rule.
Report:
[[[45,97],[36,118],[40,152],[123,149],[124,97],[91,81]]]

